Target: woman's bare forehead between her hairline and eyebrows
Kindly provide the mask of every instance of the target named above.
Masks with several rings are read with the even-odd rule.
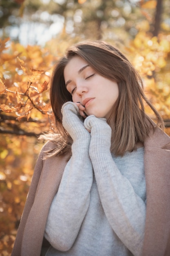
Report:
[[[72,74],[78,74],[79,70],[88,65],[88,63],[81,57],[75,56],[71,58],[64,68],[64,78]]]

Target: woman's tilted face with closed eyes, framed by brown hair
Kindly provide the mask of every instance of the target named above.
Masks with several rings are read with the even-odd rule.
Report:
[[[73,102],[85,106],[86,115],[108,119],[118,98],[116,82],[101,76],[79,56],[71,58],[64,69],[66,89]]]

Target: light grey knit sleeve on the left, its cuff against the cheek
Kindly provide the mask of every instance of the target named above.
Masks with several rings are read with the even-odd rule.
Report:
[[[73,119],[71,114],[68,115],[70,124],[73,124]],[[83,123],[75,123],[72,157],[66,164],[59,190],[51,204],[44,234],[51,245],[60,251],[70,249],[77,237],[88,210],[93,182],[88,154],[91,136]]]

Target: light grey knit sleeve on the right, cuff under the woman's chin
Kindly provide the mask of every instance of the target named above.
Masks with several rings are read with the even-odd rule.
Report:
[[[117,168],[110,153],[111,128],[105,119],[86,118],[91,130],[89,155],[106,217],[124,245],[135,256],[143,247],[146,204]]]

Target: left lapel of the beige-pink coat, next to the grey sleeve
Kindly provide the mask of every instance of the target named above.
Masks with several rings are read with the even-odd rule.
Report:
[[[22,256],[38,256],[51,201],[60,185],[68,155],[44,161],[35,199],[26,221],[22,238]],[[35,170],[36,171],[36,170]]]

